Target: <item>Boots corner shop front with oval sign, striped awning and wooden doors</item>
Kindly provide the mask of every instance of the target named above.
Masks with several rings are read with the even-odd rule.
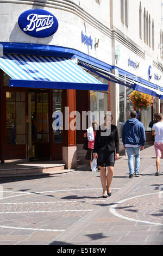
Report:
[[[147,93],[155,96],[158,104],[161,98],[156,94],[160,97],[163,93],[154,83],[135,81],[135,73],[112,65],[110,32],[99,33],[96,26],[85,25],[71,11],[62,16],[60,10],[57,20],[47,11],[54,13],[55,9],[48,7],[28,10],[28,5],[24,8],[18,3],[2,5],[9,14],[19,8],[13,16],[15,27],[7,21],[6,40],[0,35],[1,163],[12,159],[62,160],[66,168],[74,168],[77,146],[82,147],[88,124],[83,128],[83,112],[111,111],[121,135],[131,109],[128,95],[134,89],[141,92],[148,87]],[[72,17],[76,21],[73,25],[68,23]],[[135,69],[131,58],[128,63]],[[125,80],[124,73],[133,78]],[[158,111],[155,106],[153,114]],[[77,126],[77,112],[80,129],[70,129],[72,123]],[[149,115],[142,112],[141,120]],[[143,121],[146,129],[148,119]]]

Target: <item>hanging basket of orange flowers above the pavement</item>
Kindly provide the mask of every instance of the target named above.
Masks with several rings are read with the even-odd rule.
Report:
[[[131,104],[133,104],[134,109],[148,109],[150,106],[153,106],[153,96],[140,93],[134,90],[130,94]]]

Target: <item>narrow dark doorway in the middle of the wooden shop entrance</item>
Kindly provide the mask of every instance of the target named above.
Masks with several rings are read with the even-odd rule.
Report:
[[[28,158],[49,160],[49,93],[28,92]]]

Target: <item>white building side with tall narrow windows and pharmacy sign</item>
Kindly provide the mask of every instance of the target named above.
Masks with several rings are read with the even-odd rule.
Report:
[[[112,66],[122,77],[141,82],[144,87],[162,88],[162,1],[110,2],[114,45]],[[123,86],[119,86],[119,89],[121,133],[122,125],[129,119],[132,108],[129,103],[132,90]],[[141,111],[141,121],[148,140],[152,140],[148,125],[154,113],[162,111],[161,101],[159,97],[154,97],[153,107]]]

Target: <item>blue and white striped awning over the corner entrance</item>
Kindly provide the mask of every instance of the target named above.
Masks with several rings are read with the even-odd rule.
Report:
[[[71,59],[4,54],[0,68],[12,78],[11,87],[108,90],[108,84],[99,82]]]

